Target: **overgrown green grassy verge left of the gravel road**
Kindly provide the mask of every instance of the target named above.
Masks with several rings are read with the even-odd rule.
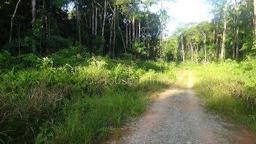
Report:
[[[163,61],[50,57],[1,71],[1,143],[99,143],[176,79]]]

